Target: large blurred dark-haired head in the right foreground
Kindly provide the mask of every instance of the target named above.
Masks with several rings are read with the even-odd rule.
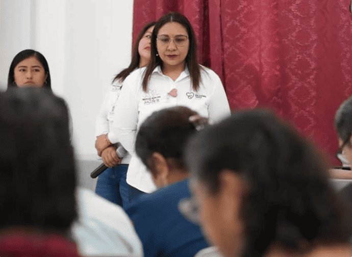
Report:
[[[239,196],[234,217],[243,233],[235,230],[243,244],[232,232],[223,231],[227,239],[212,238],[220,249],[241,247],[241,256],[262,256],[272,245],[305,252],[319,243],[348,242],[350,224],[325,164],[308,142],[271,112],[234,113],[195,135],[185,158],[196,184],[209,195],[221,195],[228,177],[243,185],[235,190],[240,191],[236,196],[230,194],[217,217],[221,220],[222,213],[234,206],[232,195]]]

